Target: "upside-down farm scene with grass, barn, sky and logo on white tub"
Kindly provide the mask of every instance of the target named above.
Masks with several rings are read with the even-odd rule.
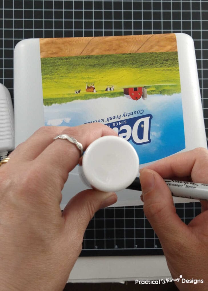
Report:
[[[176,51],[44,56],[41,68],[45,125],[103,123],[141,164],[185,148]]]

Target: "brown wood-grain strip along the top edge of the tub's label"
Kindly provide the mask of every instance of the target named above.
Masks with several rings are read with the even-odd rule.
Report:
[[[41,58],[143,52],[177,52],[175,34],[40,38]]]

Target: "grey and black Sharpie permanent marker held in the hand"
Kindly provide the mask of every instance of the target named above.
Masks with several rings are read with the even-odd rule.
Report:
[[[197,200],[208,200],[208,184],[170,179],[165,179],[164,181],[170,189],[172,196]],[[126,189],[141,191],[142,188],[139,178],[136,178],[134,182]]]

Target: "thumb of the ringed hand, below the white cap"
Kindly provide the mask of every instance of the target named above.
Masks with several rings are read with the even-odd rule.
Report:
[[[83,239],[84,232],[95,212],[116,201],[117,196],[114,192],[107,193],[92,189],[79,192],[68,202],[62,212],[67,232],[70,233],[73,229]]]

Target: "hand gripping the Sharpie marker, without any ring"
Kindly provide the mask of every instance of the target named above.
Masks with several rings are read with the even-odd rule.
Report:
[[[140,173],[144,212],[159,237],[172,278],[182,275],[204,282],[182,283],[180,279],[175,284],[181,291],[208,290],[208,201],[201,201],[202,213],[186,225],[176,214],[173,197],[162,179],[207,184],[208,150],[196,148],[167,157]]]

